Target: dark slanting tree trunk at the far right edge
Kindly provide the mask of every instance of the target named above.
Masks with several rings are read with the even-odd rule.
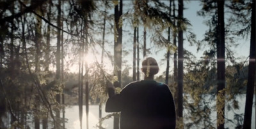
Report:
[[[250,40],[250,61],[248,66],[248,81],[246,89],[246,102],[244,108],[244,125],[243,128],[251,128],[252,125],[252,105],[253,105],[253,91],[255,85],[255,51],[256,51],[256,37],[255,37],[255,1],[252,1],[252,19],[251,19],[251,40]]]

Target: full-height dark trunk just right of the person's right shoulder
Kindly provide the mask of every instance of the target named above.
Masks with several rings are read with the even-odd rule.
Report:
[[[178,17],[183,18],[183,1],[179,0]],[[183,31],[180,20],[178,21],[179,27],[179,46],[178,46],[178,118],[183,126]]]

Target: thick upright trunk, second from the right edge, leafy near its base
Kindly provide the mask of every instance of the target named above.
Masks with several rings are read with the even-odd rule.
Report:
[[[217,1],[217,128],[224,128],[225,123],[225,23],[224,1]]]

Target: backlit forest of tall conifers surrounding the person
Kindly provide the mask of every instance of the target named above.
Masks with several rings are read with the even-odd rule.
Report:
[[[201,39],[184,15],[191,3],[204,19]],[[108,128],[102,123],[113,119],[118,129],[118,112],[103,115],[106,83],[120,92],[143,79],[146,57],[157,59],[156,80],[173,94],[176,128],[255,128],[255,6],[254,0],[0,0],[0,128],[69,128],[65,114],[77,105],[72,115],[88,129],[89,107],[97,105],[94,128]],[[236,51],[243,42],[245,57]]]

